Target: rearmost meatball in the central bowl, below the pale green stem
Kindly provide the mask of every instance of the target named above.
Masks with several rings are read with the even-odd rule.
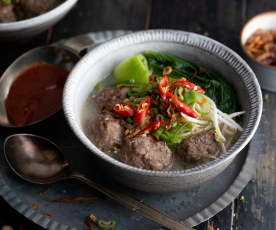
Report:
[[[128,88],[117,87],[103,89],[94,96],[95,102],[99,109],[102,109],[103,107],[111,109],[113,105],[123,102],[127,97],[128,91]]]

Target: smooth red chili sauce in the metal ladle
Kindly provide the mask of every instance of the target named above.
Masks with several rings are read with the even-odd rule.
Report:
[[[61,108],[62,91],[69,72],[44,62],[24,68],[5,100],[9,122],[16,126],[49,117]]]

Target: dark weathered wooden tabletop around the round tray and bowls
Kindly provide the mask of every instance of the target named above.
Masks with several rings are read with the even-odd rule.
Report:
[[[24,41],[23,44],[0,44],[0,71],[4,71],[18,55],[49,40],[56,41],[71,35],[108,29],[137,30],[149,27],[189,30],[209,35],[241,54],[239,33],[244,22],[260,12],[275,9],[276,2],[271,0],[81,0],[75,9],[48,34],[44,33],[28,43]],[[276,133],[273,126],[276,96],[273,93],[264,93],[268,95],[265,97],[267,100],[264,103],[262,120],[265,142],[260,146],[261,157],[254,180],[244,190],[242,194],[244,200],[239,197],[233,205],[229,205],[219,215],[201,224],[197,229],[207,230],[209,224],[214,225],[215,230],[217,227],[220,230],[275,229],[276,203],[273,197],[276,192]],[[80,144],[76,144],[76,138],[69,127],[58,122],[60,119],[63,119],[62,113],[47,123],[24,130],[0,128],[0,141],[12,133],[37,133],[54,140],[64,149],[76,152],[76,155],[80,154]],[[66,139],[63,139],[63,132],[68,133]],[[74,164],[81,163],[76,159]],[[16,229],[19,226],[23,226],[24,229],[41,229],[17,214],[2,199],[0,205],[0,226],[11,224]]]

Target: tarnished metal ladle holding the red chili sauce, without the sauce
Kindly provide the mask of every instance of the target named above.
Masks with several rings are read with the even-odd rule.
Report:
[[[24,67],[43,61],[71,71],[79,61],[83,51],[93,45],[94,42],[87,35],[80,35],[64,41],[63,44],[53,44],[32,49],[17,58],[0,78],[0,126],[17,127],[8,120],[5,99],[13,81]],[[34,123],[29,123],[24,126]]]

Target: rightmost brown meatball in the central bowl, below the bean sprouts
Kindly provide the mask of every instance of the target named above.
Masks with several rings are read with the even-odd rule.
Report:
[[[178,156],[186,163],[205,163],[222,152],[211,131],[203,131],[185,139],[178,147]]]

